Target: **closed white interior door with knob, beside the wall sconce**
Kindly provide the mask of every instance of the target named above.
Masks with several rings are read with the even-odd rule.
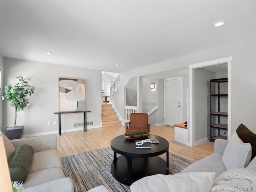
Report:
[[[181,78],[165,80],[165,124],[174,126],[181,120]]]

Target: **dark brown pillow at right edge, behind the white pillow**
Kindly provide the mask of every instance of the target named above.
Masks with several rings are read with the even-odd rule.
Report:
[[[236,129],[236,133],[237,133],[238,137],[244,143],[250,143],[251,144],[251,146],[252,146],[252,158],[251,158],[251,160],[252,160],[256,156],[256,134],[254,134],[251,130],[249,130],[242,123]]]

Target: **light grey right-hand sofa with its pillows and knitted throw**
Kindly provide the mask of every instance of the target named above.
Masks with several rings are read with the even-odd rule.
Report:
[[[217,139],[214,154],[175,175],[153,175],[134,182],[131,192],[227,192],[256,190],[256,134],[241,124],[230,140]]]

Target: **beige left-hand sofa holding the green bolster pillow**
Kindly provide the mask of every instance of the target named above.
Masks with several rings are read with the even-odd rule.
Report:
[[[3,137],[7,160],[19,146],[30,145],[34,150],[22,192],[74,192],[72,180],[62,170],[55,134],[14,140]]]

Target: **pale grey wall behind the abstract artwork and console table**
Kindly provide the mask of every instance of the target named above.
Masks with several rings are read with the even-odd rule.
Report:
[[[58,124],[54,125],[54,121],[58,122],[58,115],[53,113],[59,110],[59,77],[85,79],[86,109],[92,111],[87,113],[87,121],[94,121],[94,126],[87,128],[100,127],[101,71],[4,58],[4,84],[16,84],[17,76],[31,78],[30,85],[36,89],[35,94],[28,98],[31,104],[29,110],[24,109],[17,114],[16,125],[25,126],[23,137],[58,132]],[[13,126],[14,108],[6,100],[3,104],[3,127]],[[51,125],[48,125],[49,121]],[[75,130],[72,128],[74,122],[83,122],[83,113],[63,114],[62,132]]]

